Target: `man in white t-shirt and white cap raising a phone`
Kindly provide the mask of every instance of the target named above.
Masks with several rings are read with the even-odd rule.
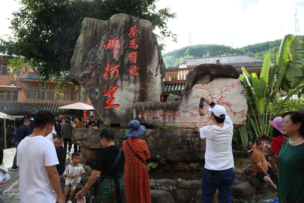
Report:
[[[211,107],[211,121],[214,125],[204,126],[204,109],[199,108],[198,130],[202,139],[206,138],[205,168],[202,178],[202,203],[212,202],[219,189],[221,203],[231,202],[231,185],[234,180],[232,155],[233,124],[226,109],[215,105],[208,97],[202,97]]]

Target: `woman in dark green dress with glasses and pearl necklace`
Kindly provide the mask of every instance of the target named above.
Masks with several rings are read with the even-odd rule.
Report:
[[[279,202],[304,202],[304,112],[289,111],[281,122],[287,138],[278,154],[266,145],[264,151],[279,166]]]

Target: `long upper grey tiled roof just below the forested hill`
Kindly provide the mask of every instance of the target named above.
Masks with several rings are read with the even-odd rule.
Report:
[[[184,63],[176,66],[168,67],[168,69],[178,68],[180,65],[195,66],[200,64],[216,64],[216,60],[223,65],[232,65],[234,68],[250,68],[250,67],[262,67],[264,59],[254,58],[250,54],[242,55],[229,55],[229,56],[211,56],[211,57],[199,57],[199,58],[186,58]]]

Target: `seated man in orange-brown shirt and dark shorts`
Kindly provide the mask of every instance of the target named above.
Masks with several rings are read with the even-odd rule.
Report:
[[[263,139],[259,139],[256,143],[257,148],[253,151],[251,156],[253,175],[259,180],[267,183],[269,187],[271,187],[275,191],[278,191],[277,186],[275,186],[275,184],[270,179],[270,176],[266,172],[268,170],[268,164],[265,159],[265,155],[262,153],[263,147],[266,145],[266,142]]]

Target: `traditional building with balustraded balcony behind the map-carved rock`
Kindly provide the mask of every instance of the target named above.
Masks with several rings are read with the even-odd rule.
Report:
[[[161,95],[164,101],[169,94],[181,95],[188,72],[200,64],[232,65],[240,74],[242,74],[241,68],[244,67],[249,74],[260,75],[263,62],[264,59],[254,58],[250,54],[186,58],[186,61],[181,64],[167,67]]]

